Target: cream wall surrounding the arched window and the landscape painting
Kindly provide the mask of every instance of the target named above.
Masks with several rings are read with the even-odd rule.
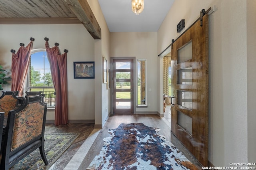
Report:
[[[35,38],[33,49],[45,48],[45,37],[50,47],[58,42],[61,53],[68,49],[68,119],[94,120],[94,79],[74,79],[74,61],[94,61],[94,40],[82,24],[0,25],[0,30],[0,59],[6,67],[11,66],[10,49],[18,51],[30,37]],[[54,112],[47,113],[47,120],[54,120]]]

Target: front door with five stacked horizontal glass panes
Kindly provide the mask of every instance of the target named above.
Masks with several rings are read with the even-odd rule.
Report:
[[[113,59],[113,114],[133,114],[133,61]]]

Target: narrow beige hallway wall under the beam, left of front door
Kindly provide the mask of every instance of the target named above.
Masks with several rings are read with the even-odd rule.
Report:
[[[100,127],[108,118],[111,111],[110,107],[110,90],[106,88],[106,83],[102,83],[102,57],[110,65],[110,32],[106,24],[102,10],[97,0],[87,0],[98,24],[101,28],[101,40],[94,40],[94,59],[96,63],[95,72],[95,125]]]

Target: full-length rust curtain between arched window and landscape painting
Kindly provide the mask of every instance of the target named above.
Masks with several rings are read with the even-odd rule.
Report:
[[[45,48],[56,91],[54,124],[66,125],[68,123],[67,53],[61,55],[58,46],[50,48],[48,41],[45,42]]]

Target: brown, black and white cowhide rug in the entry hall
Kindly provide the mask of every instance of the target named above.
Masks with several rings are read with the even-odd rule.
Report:
[[[197,170],[159,128],[122,123],[110,129],[100,153],[87,170]]]

